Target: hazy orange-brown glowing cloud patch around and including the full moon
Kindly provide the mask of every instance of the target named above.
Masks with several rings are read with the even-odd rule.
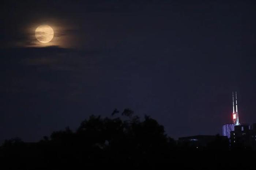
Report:
[[[19,28],[18,36],[5,46],[79,48],[82,46],[79,33],[80,28],[68,20],[31,19]]]

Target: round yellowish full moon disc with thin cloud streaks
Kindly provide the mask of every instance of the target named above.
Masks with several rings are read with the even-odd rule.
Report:
[[[54,35],[52,27],[49,25],[40,25],[35,29],[35,37],[41,43],[48,43],[52,40]]]

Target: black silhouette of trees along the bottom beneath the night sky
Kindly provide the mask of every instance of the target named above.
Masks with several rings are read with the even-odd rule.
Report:
[[[180,145],[165,134],[157,120],[140,120],[125,109],[114,118],[90,116],[76,131],[55,131],[35,143],[19,138],[0,148],[1,169],[255,169],[255,151],[230,150],[216,135],[206,147]],[[176,129],[177,130],[177,129]]]

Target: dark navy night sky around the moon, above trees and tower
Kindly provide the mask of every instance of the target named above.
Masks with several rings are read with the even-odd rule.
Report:
[[[178,137],[256,122],[256,3],[12,1],[0,10],[0,142],[38,141],[114,108]],[[54,29],[39,43],[35,29]]]

